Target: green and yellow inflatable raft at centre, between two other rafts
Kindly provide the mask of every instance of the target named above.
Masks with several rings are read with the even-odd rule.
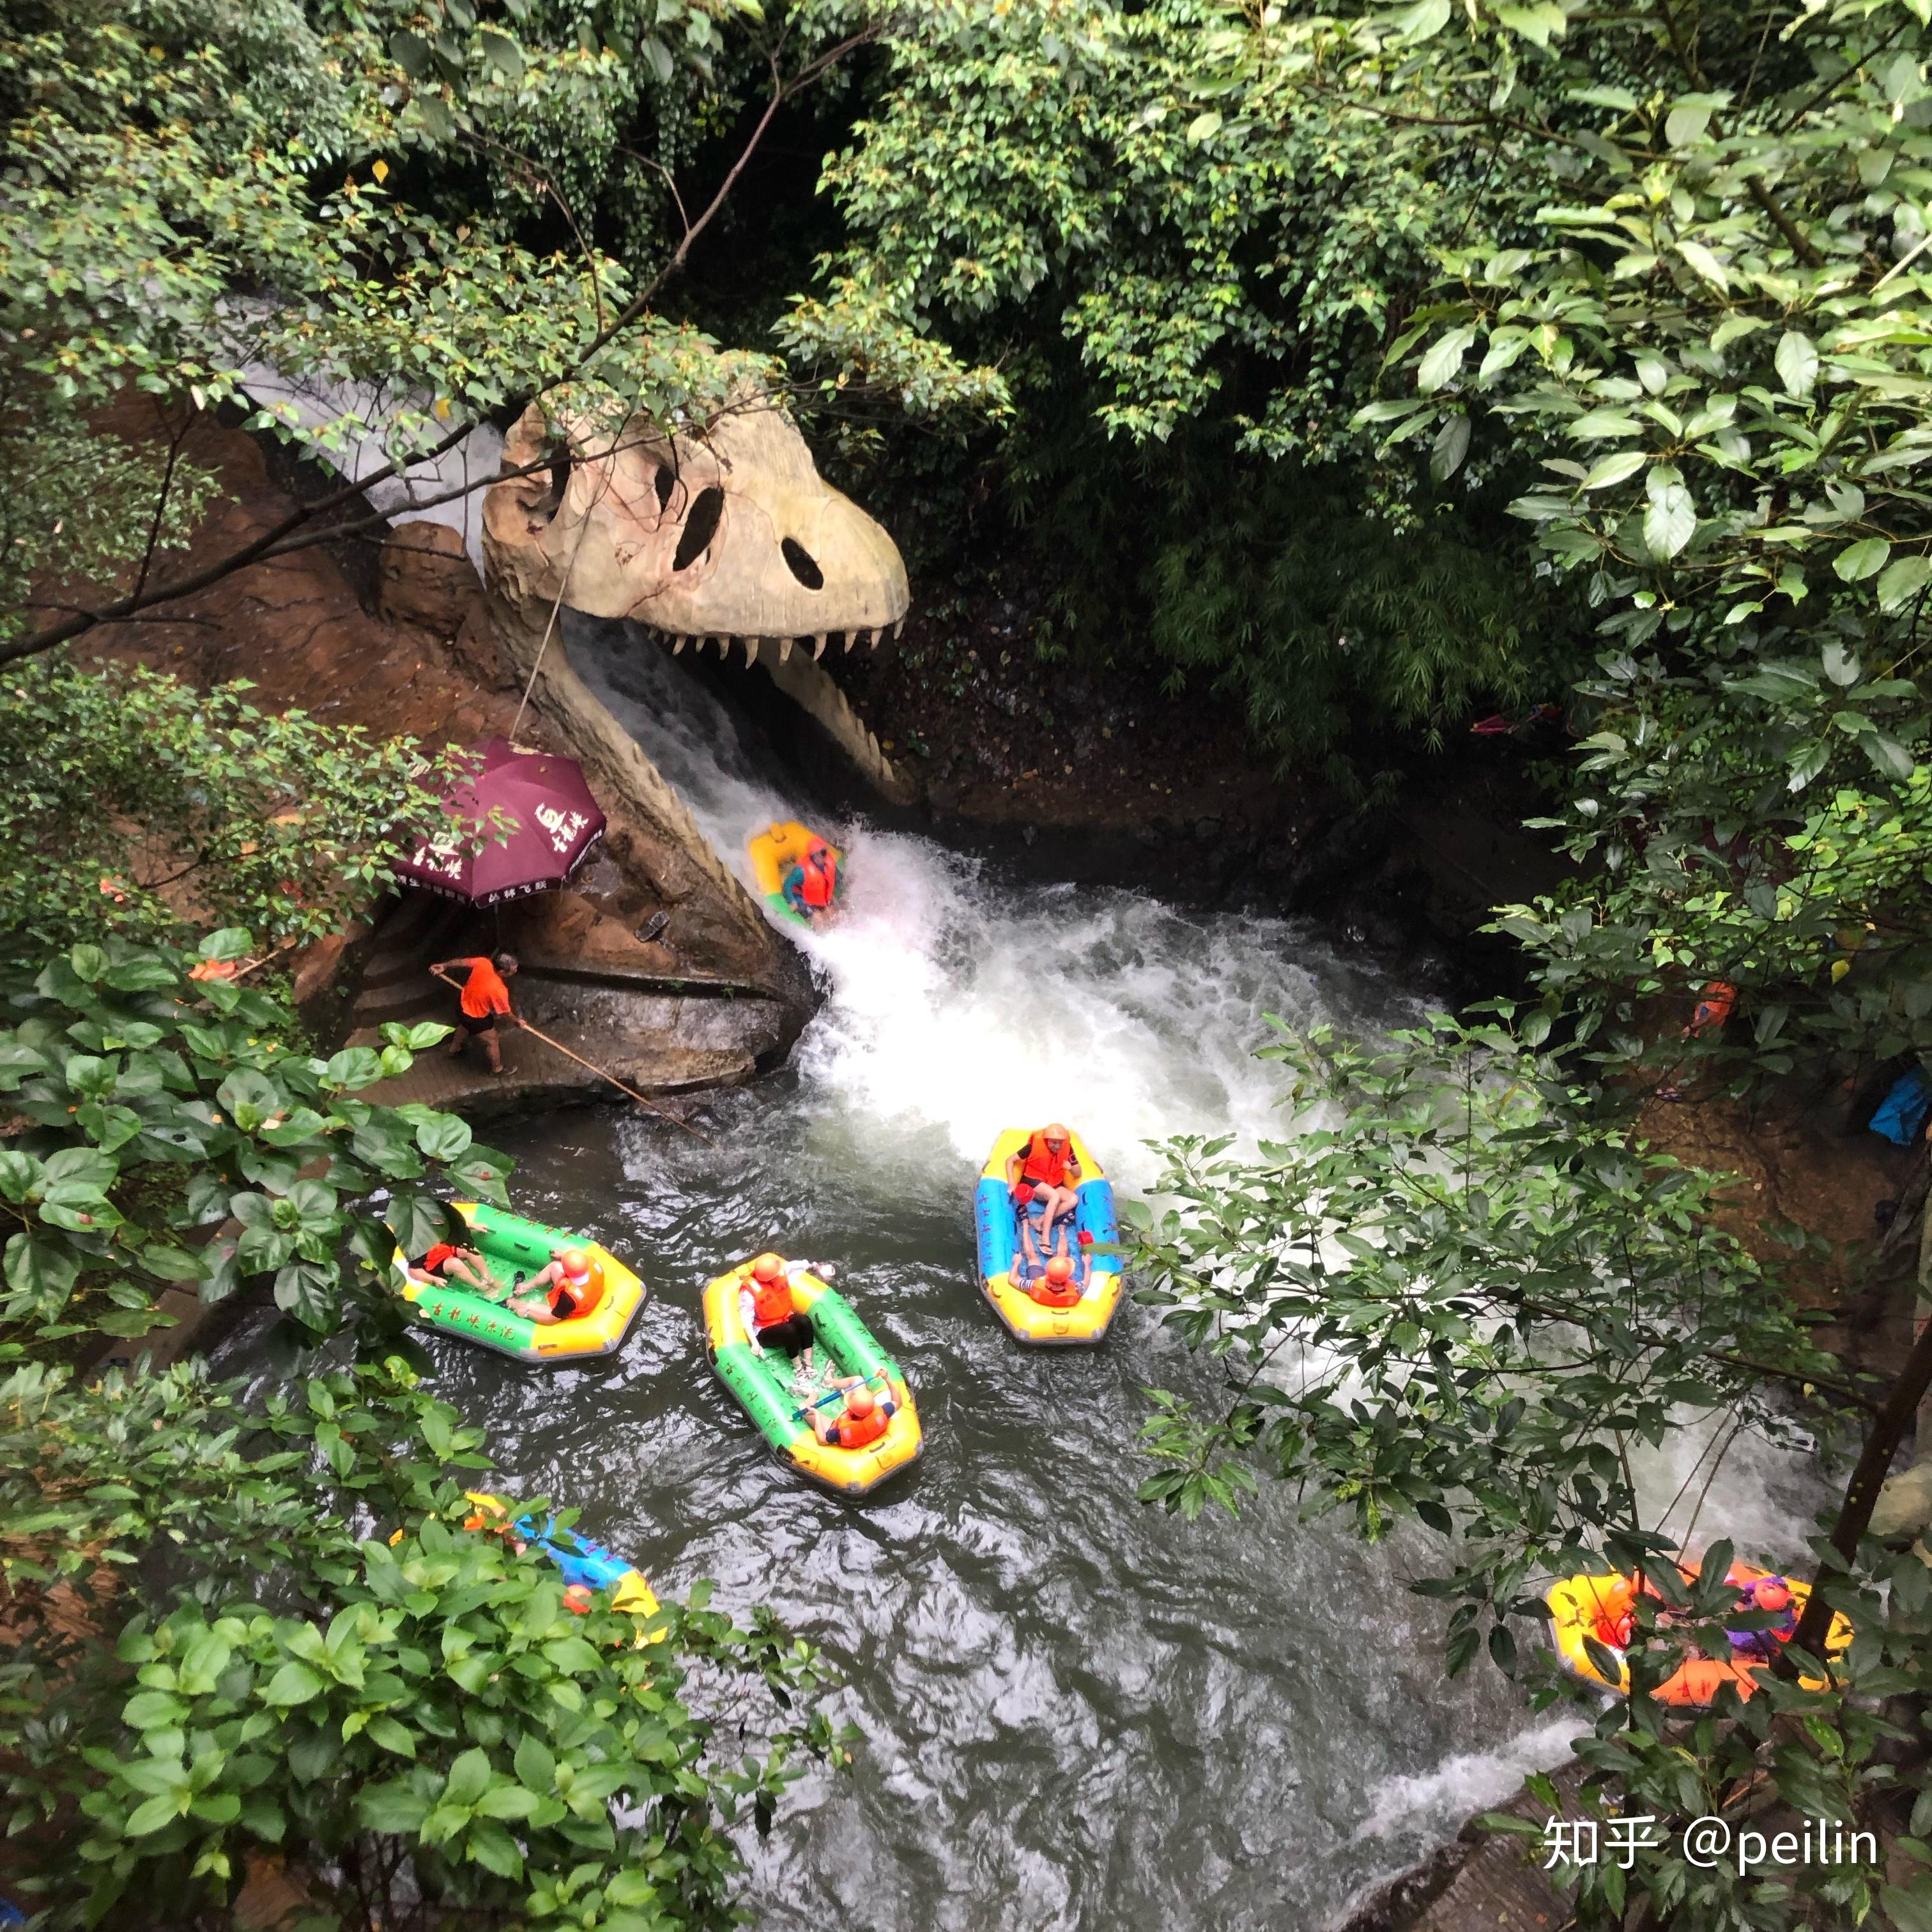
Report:
[[[811,1318],[815,1347],[838,1366],[838,1374],[867,1378],[875,1393],[891,1393],[896,1405],[885,1434],[864,1449],[821,1443],[811,1434],[811,1424],[792,1393],[790,1358],[759,1349],[744,1329],[738,1291],[750,1275],[752,1264],[740,1262],[728,1275],[719,1275],[705,1287],[705,1347],[711,1352],[711,1366],[771,1443],[771,1453],[781,1463],[790,1463],[808,1482],[838,1495],[866,1495],[893,1470],[916,1463],[923,1447],[920,1412],[898,1364],[852,1312],[852,1304],[806,1271],[792,1281],[792,1304]]]

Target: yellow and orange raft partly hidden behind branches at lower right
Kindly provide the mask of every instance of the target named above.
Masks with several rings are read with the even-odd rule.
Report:
[[[1685,1582],[1696,1582],[1698,1573],[1685,1563],[1677,1565]],[[1723,1580],[1737,1592],[1733,1615],[1752,1615],[1750,1627],[1725,1629],[1727,1654],[1721,1658],[1690,1652],[1652,1692],[1660,1704],[1673,1704],[1683,1710],[1708,1710],[1718,1692],[1727,1685],[1739,1696],[1750,1696],[1758,1689],[1758,1677],[1777,1658],[1777,1652],[1791,1640],[1791,1633],[1804,1615],[1810,1598],[1810,1584],[1791,1582],[1776,1571],[1758,1569],[1752,1563],[1733,1563]],[[1675,1621],[1675,1613],[1663,1607],[1663,1598],[1654,1584],[1631,1577],[1565,1577],[1549,1588],[1544,1602],[1549,1605],[1557,1654],[1565,1669],[1588,1683],[1605,1685],[1611,1690],[1629,1690],[1629,1652],[1638,1636],[1638,1600],[1648,1600],[1652,1615],[1665,1627]],[[1766,1619],[1760,1623],[1760,1619]],[[1615,1675],[1605,1675],[1598,1652],[1609,1656]],[[1826,1633],[1824,1652],[1828,1658],[1839,1656],[1851,1644],[1851,1623],[1839,1613],[1832,1617]],[[1822,1679],[1803,1679],[1806,1689],[1824,1689]]]

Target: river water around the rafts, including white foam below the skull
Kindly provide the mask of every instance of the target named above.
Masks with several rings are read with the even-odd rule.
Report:
[[[574,626],[572,661],[721,852],[810,800],[655,647]],[[583,1511],[659,1590],[771,1602],[844,1673],[854,1776],[813,1774],[752,1843],[765,1928],[1316,1928],[1575,1721],[1532,1727],[1488,1667],[1445,1683],[1420,1546],[1366,1549],[1264,1486],[1238,1522],[1134,1501],[1144,1389],[1211,1376],[1148,1310],[1094,1352],[1009,1341],[974,1281],[972,1186],[1007,1124],[1072,1121],[1132,1188],[1144,1142],[1279,1130],[1262,1016],[1399,1024],[1426,989],[1279,920],[1003,881],[844,827],[852,904],[792,1065],[717,1095],[715,1146],[638,1113],[495,1138],[522,1213],[583,1227],[653,1298],[612,1360],[531,1372],[431,1337],[504,1482]],[[773,1246],[837,1264],[904,1366],[923,1461],[862,1505],[765,1451],[703,1352],[697,1298]],[[1710,1530],[1710,1526],[1708,1526]]]

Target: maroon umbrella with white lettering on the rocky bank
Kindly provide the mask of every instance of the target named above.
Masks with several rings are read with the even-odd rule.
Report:
[[[518,752],[508,738],[489,738],[471,752],[481,769],[442,800],[450,815],[446,842],[425,838],[390,867],[398,879],[471,906],[495,906],[562,885],[603,837],[605,815],[574,757]],[[506,844],[487,837],[466,852],[466,837],[491,811],[514,825]]]

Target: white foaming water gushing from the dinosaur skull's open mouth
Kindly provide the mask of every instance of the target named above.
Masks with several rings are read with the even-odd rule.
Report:
[[[750,885],[748,837],[811,819],[810,804],[638,632],[578,620],[570,651]],[[1422,1010],[1285,920],[1022,885],[925,838],[817,825],[848,850],[848,898],[837,927],[800,939],[831,999],[798,1068],[875,1146],[931,1128],[980,1161],[1001,1128],[1066,1117],[1101,1134],[1109,1171],[1146,1182],[1148,1140],[1277,1122],[1279,1078],[1254,1059],[1264,1014],[1372,1028]]]

